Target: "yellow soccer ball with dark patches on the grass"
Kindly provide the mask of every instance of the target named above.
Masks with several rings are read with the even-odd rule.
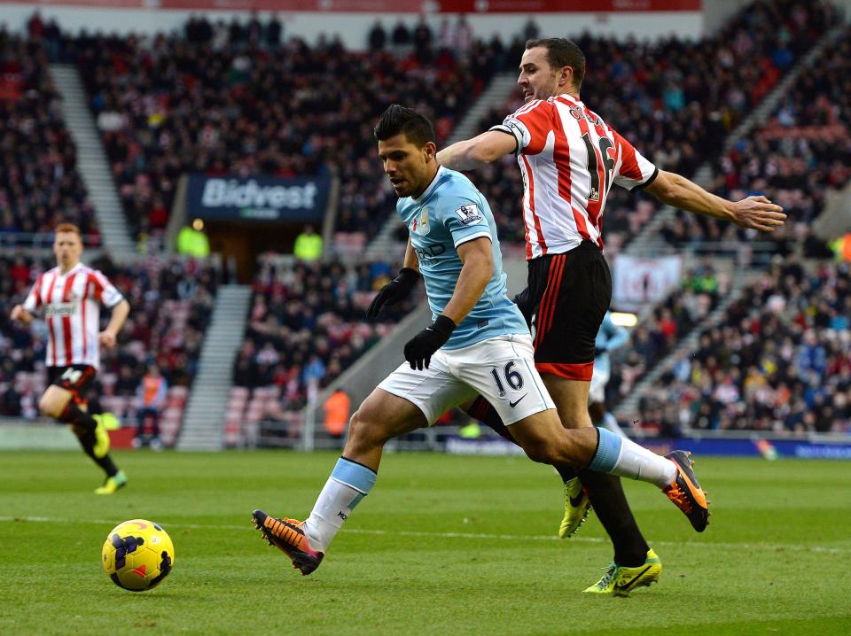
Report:
[[[175,546],[158,524],[132,519],[106,537],[102,562],[116,586],[144,592],[160,585],[175,565]]]

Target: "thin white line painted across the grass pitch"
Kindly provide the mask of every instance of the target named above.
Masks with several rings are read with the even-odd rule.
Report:
[[[28,522],[35,524],[115,524],[114,520],[104,519],[62,519],[50,516],[0,516],[0,523],[4,522]],[[169,528],[188,528],[191,530],[248,530],[250,522],[244,525],[236,524],[164,524]],[[363,528],[347,528],[347,534],[372,534],[385,535],[388,537],[426,537],[436,539],[482,539],[497,541],[564,541],[569,543],[608,543],[608,539],[602,537],[573,537],[571,539],[559,539],[555,535],[534,534],[487,534],[483,532],[426,532],[409,530],[367,530]],[[653,541],[654,546],[676,546],[676,547],[721,547],[724,549],[746,549],[746,550],[796,550],[804,552],[818,552],[829,555],[851,555],[851,548],[826,547],[826,546],[800,546],[792,543],[716,543],[713,541]]]

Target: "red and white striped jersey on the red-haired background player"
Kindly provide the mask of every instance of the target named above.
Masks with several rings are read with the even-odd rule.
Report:
[[[100,366],[100,303],[113,307],[124,297],[99,271],[82,263],[62,274],[53,268],[35,281],[24,301],[30,313],[44,307],[47,366]]]

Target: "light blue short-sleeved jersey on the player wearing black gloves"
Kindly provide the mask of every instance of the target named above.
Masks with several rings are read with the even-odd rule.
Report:
[[[463,263],[457,246],[479,237],[490,239],[494,274],[479,302],[443,348],[458,349],[489,337],[529,333],[523,314],[507,295],[494,214],[465,175],[439,167],[426,191],[418,198],[400,198],[396,212],[408,227],[411,245],[417,252],[432,320],[449,303],[461,275]]]

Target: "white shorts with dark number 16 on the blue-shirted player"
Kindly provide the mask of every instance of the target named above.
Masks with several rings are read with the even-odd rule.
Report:
[[[555,408],[535,370],[532,337],[500,336],[461,349],[441,349],[422,371],[403,362],[379,389],[407,399],[431,426],[452,407],[481,395],[508,425]]]

